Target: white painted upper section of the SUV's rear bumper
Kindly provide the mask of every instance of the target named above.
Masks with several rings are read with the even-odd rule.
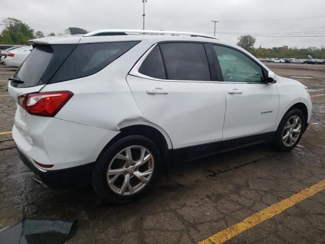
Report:
[[[30,116],[28,126],[16,114],[12,137],[17,148],[29,161],[51,168],[35,167],[41,171],[75,168],[95,162],[106,144],[119,131],[85,126],[57,118]],[[17,118],[18,117],[18,118]]]

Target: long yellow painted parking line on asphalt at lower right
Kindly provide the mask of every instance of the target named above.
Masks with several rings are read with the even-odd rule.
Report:
[[[243,231],[262,223],[265,220],[272,218],[275,215],[280,214],[280,212],[284,211],[285,209],[294,206],[298,202],[305,200],[306,198],[316,194],[325,189],[325,179],[319,181],[317,184],[302,190],[301,192],[286,198],[278,203],[275,203],[255,214],[249,216],[248,218],[244,219],[242,222],[237,223],[228,229],[224,229],[212,236],[208,239],[202,240],[199,244],[219,244],[223,243],[226,240],[233,238],[234,236],[242,233]]]

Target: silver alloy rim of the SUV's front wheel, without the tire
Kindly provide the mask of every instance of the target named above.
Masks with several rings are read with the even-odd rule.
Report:
[[[301,119],[294,115],[289,118],[282,132],[282,141],[285,146],[293,146],[301,133]]]

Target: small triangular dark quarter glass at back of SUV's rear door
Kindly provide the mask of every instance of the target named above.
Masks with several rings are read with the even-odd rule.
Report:
[[[155,46],[146,57],[139,69],[139,72],[150,77],[166,79],[163,59],[161,58],[161,53],[158,46]]]

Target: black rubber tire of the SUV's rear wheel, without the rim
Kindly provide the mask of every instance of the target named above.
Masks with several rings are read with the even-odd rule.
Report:
[[[120,195],[118,193],[115,193],[109,187],[107,181],[107,170],[110,162],[121,150],[128,146],[134,145],[143,146],[150,151],[154,161],[153,173],[149,181],[142,189],[139,190],[139,192],[135,192],[131,195]],[[100,156],[93,171],[92,186],[96,193],[100,196],[100,198],[102,198],[105,202],[114,204],[124,204],[132,202],[142,197],[154,186],[159,176],[161,165],[162,160],[160,152],[151,139],[141,135],[126,136],[116,141],[110,147],[108,147]]]

